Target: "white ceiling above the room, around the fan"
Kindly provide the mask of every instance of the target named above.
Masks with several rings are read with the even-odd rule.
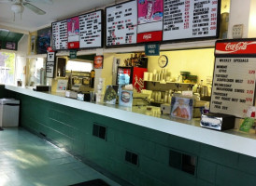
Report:
[[[28,32],[50,26],[50,23],[53,21],[69,18],[97,7],[106,7],[117,2],[115,0],[52,0],[53,4],[50,5],[42,3],[45,0],[29,0],[32,5],[39,7],[47,13],[45,15],[37,15],[25,7],[23,13],[16,15],[14,20],[14,13],[11,11],[11,1],[15,0],[9,1],[7,3],[0,3],[0,28],[5,27]]]

